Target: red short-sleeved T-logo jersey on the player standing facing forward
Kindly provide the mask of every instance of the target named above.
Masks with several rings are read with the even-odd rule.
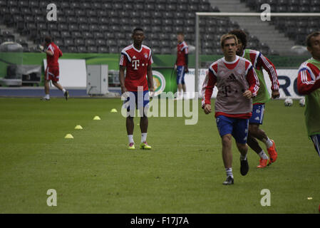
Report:
[[[138,86],[148,90],[147,69],[153,63],[151,49],[142,45],[137,50],[133,44],[123,48],[120,56],[120,66],[125,66],[125,88],[128,91],[138,91]]]

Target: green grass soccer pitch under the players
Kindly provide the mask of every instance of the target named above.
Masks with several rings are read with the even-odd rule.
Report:
[[[200,102],[196,125],[149,118],[153,149],[133,151],[120,99],[0,98],[0,107],[0,213],[319,213],[320,157],[297,100],[292,107],[267,103],[261,128],[276,142],[277,162],[259,170],[249,149],[242,177],[233,140],[231,186],[222,185],[214,115],[205,115]],[[135,118],[136,145],[138,123]],[[68,133],[73,139],[64,138]],[[56,190],[56,207],[47,205],[49,189]],[[260,203],[264,189],[270,206]]]

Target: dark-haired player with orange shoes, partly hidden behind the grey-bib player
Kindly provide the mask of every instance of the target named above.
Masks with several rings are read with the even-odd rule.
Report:
[[[274,64],[269,61],[269,59],[262,55],[261,52],[252,49],[246,49],[247,47],[247,34],[242,30],[233,30],[229,33],[234,34],[238,38],[238,50],[237,55],[246,58],[252,63],[254,70],[259,78],[260,88],[258,90],[257,96],[252,98],[253,109],[252,117],[249,120],[249,133],[247,144],[254,150],[260,157],[258,168],[264,168],[272,162],[277,160],[277,150],[274,140],[268,138],[264,130],[259,128],[262,125],[262,120],[264,118],[265,103],[270,100],[269,92],[267,90],[266,82],[264,81],[264,74],[262,68],[264,68],[269,74],[270,81],[272,83],[272,98],[279,98],[279,82],[276,68]],[[267,147],[268,155],[264,152],[262,147],[259,146],[260,140],[264,142]]]

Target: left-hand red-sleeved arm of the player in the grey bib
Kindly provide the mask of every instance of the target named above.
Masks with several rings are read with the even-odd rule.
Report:
[[[202,84],[202,108],[205,111],[205,114],[209,114],[212,112],[211,110],[211,96],[213,93],[213,88],[215,88],[215,84],[217,83],[217,77],[213,73],[213,71],[209,71],[207,76],[205,76],[205,81]]]

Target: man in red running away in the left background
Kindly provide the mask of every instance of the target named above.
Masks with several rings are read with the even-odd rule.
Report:
[[[59,63],[58,58],[62,56],[62,51],[55,43],[52,42],[50,36],[46,36],[44,39],[45,47],[39,46],[40,50],[46,53],[46,73],[44,76],[44,92],[46,95],[42,98],[42,100],[50,100],[49,95],[49,81],[52,81],[53,86],[56,86],[59,90],[63,91],[63,95],[68,100],[69,93],[63,88],[59,83]]]

